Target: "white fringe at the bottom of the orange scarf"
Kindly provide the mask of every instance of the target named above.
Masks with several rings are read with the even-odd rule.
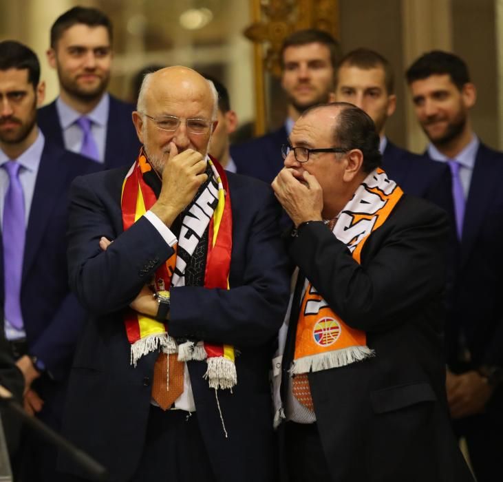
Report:
[[[348,346],[340,350],[302,357],[295,360],[288,371],[291,375],[299,375],[310,371],[319,372],[321,370],[349,365],[354,362],[361,362],[365,358],[374,356],[374,350],[371,350],[368,346]]]

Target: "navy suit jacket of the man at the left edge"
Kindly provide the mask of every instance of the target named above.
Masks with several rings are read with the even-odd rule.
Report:
[[[39,357],[54,377],[34,381],[45,400],[41,419],[58,426],[63,386],[69,373],[85,311],[70,293],[66,260],[67,196],[72,180],[99,169],[91,160],[61,149],[47,138],[42,151],[26,230],[21,310],[30,355]],[[3,251],[3,244],[0,246]],[[1,273],[3,255],[0,252]],[[4,303],[0,276],[1,306]]]

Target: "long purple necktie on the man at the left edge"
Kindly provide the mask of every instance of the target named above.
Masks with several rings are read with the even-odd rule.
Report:
[[[14,328],[23,328],[21,314],[21,275],[25,247],[25,200],[19,182],[21,165],[9,160],[2,166],[9,175],[9,189],[3,204],[3,286],[5,316]]]

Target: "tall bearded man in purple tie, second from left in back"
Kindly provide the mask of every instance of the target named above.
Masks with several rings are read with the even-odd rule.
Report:
[[[134,107],[107,93],[111,21],[95,8],[74,7],[56,19],[50,42],[47,59],[58,72],[60,95],[40,109],[42,132],[105,168],[130,164],[140,147]]]

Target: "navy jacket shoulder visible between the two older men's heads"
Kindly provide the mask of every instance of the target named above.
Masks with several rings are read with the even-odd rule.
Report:
[[[280,129],[246,143],[232,145],[231,157],[237,172],[270,184],[283,169],[281,145],[286,144],[288,134],[283,125]]]

